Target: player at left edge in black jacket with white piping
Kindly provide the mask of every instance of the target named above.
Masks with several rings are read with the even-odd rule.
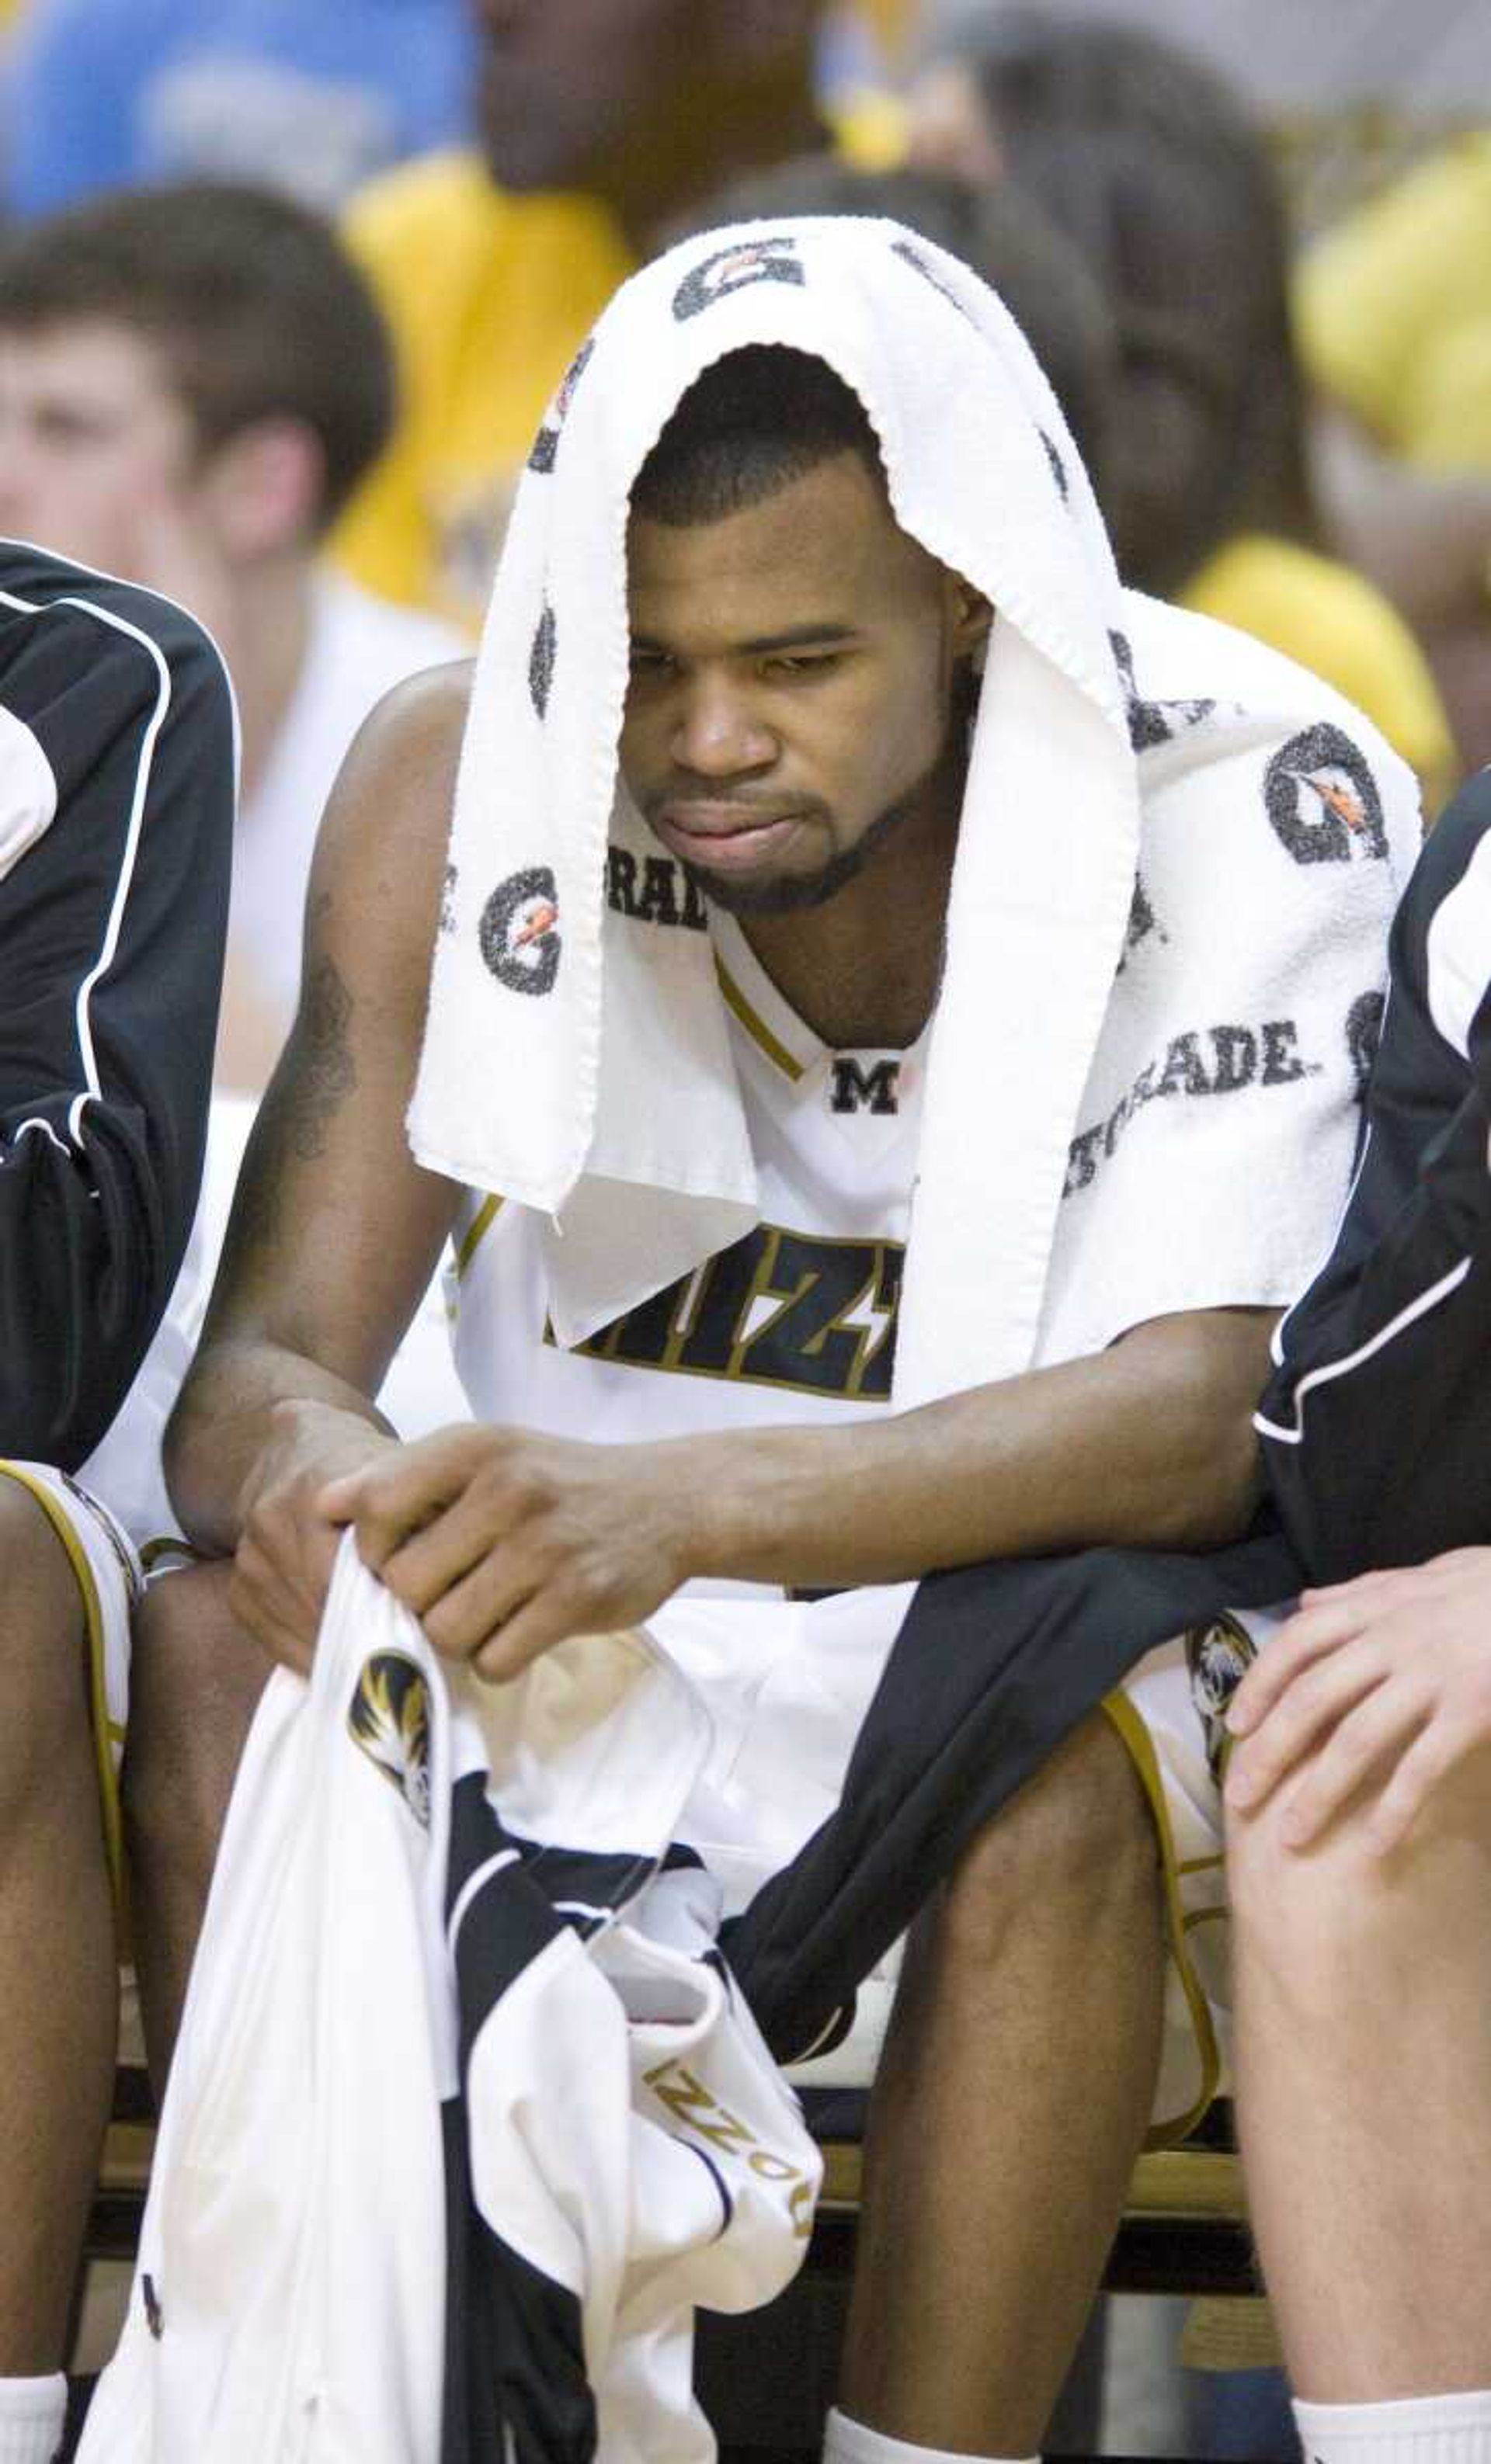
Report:
[[[138,1587],[91,1456],[131,1382],[123,1444],[158,1451],[187,1350],[153,1338],[207,1136],[234,722],[170,601],[12,542],[0,584],[0,2457],[52,2464],[113,2087]]]

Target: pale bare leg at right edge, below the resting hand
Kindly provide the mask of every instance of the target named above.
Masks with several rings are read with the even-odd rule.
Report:
[[[1491,2388],[1491,1774],[1378,1863],[1230,1811],[1237,2119],[1294,2390]]]

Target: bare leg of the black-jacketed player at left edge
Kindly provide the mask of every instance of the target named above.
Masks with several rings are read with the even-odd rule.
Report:
[[[118,1971],[84,1607],[0,1481],[0,2378],[62,2368],[113,2089]]]

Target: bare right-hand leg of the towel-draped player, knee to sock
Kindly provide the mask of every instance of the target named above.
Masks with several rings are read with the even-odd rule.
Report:
[[[1148,2124],[1156,1838],[1092,1717],[922,1917],[875,2082],[843,2407],[890,2437],[1030,2454]]]

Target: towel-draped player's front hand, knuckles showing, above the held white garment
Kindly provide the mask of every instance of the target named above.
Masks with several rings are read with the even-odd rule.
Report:
[[[569,1634],[651,1616],[693,1572],[688,1449],[436,1429],[330,1481],[328,1523],[444,1658],[513,1678]]]

